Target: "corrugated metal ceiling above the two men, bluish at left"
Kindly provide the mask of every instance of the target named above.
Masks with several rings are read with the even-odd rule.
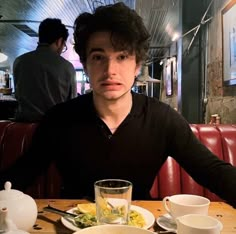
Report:
[[[37,33],[39,22],[47,17],[55,17],[72,27],[80,13],[91,12],[99,5],[113,4],[118,1],[122,0],[1,0],[0,49],[8,54],[9,59],[1,63],[0,67],[11,67],[16,56],[37,46],[37,37],[31,37],[17,29],[16,24],[24,24]],[[178,30],[179,1],[123,0],[144,19],[151,33],[151,57],[160,57],[171,44],[173,32]],[[72,41],[72,28],[69,31],[71,34],[69,41]],[[78,64],[78,56],[73,52],[72,43],[69,48],[65,57]]]

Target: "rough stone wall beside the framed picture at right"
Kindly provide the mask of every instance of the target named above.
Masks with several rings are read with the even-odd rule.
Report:
[[[207,66],[206,122],[212,114],[219,114],[221,123],[236,123],[236,86],[223,84],[222,24],[221,10],[227,0],[215,0],[212,6],[213,19],[209,24],[209,54]]]

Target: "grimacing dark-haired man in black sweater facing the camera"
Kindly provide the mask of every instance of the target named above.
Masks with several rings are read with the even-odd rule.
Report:
[[[55,162],[62,198],[94,196],[96,180],[120,178],[133,183],[134,200],[150,199],[171,155],[199,184],[236,206],[236,167],[201,144],[169,105],[132,91],[149,38],[141,17],[123,3],[79,15],[74,47],[92,91],[47,112],[29,150],[0,174],[1,184],[26,188]]]

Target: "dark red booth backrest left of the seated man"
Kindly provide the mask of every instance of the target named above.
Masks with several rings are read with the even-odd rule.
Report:
[[[36,123],[0,121],[0,170],[9,167],[25,152],[36,127]],[[24,192],[34,198],[57,198],[60,186],[59,173],[55,165],[51,165],[47,173],[37,178],[34,185]]]

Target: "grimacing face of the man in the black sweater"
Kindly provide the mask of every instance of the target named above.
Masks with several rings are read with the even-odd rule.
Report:
[[[114,51],[109,32],[93,33],[86,55],[84,68],[95,96],[116,100],[130,92],[140,66],[135,55]]]

